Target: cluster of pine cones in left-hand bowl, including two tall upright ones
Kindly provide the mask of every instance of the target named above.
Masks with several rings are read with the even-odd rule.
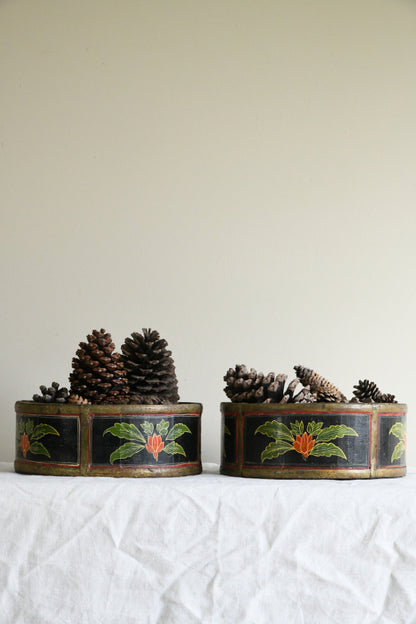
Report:
[[[94,329],[72,360],[70,390],[53,382],[40,386],[33,400],[41,403],[167,404],[179,401],[172,352],[159,333],[143,329],[126,338],[121,354],[111,335]]]

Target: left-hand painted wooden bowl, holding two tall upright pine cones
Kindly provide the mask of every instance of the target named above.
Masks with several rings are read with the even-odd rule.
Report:
[[[200,403],[70,405],[18,401],[16,472],[173,477],[201,472]]]

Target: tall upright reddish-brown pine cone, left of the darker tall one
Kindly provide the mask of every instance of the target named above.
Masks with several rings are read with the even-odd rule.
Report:
[[[91,403],[127,403],[127,375],[111,335],[105,329],[94,329],[87,341],[80,342],[78,357],[72,360],[71,394]]]

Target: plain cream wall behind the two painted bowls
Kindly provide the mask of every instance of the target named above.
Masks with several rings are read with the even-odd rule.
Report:
[[[409,405],[416,3],[0,0],[0,459],[93,328],[168,340],[219,460],[223,375]]]

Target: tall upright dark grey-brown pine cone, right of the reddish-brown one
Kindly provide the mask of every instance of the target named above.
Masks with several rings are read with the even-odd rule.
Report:
[[[130,403],[166,404],[179,401],[172,352],[157,331],[131,334],[121,347],[130,385]]]

